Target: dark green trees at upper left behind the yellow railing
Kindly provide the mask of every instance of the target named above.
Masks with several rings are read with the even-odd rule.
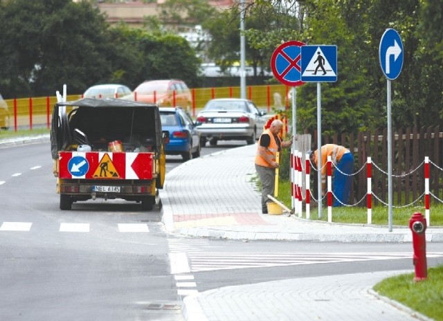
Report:
[[[4,98],[54,95],[121,82],[180,78],[198,84],[199,59],[182,37],[110,28],[88,1],[0,2],[0,89]],[[7,45],[6,45],[7,44]]]

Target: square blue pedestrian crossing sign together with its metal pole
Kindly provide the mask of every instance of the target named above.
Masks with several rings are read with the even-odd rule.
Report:
[[[337,46],[302,46],[301,80],[317,83],[317,196],[318,218],[321,218],[321,82],[337,81]]]

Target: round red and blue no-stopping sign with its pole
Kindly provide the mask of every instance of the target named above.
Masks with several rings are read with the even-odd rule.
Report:
[[[305,46],[303,42],[290,41],[284,42],[275,49],[271,56],[271,69],[279,82],[291,86],[292,89],[292,133],[293,149],[298,149],[297,134],[297,115],[296,115],[296,87],[305,84],[301,81],[300,68],[300,48]],[[291,197],[292,208],[294,208],[294,199]]]

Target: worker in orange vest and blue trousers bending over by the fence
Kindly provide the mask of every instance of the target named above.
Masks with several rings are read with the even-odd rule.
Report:
[[[309,152],[309,160],[315,166],[318,165],[318,150]],[[349,202],[352,172],[354,172],[354,156],[349,149],[335,144],[326,144],[321,147],[321,187],[322,196],[325,195],[326,187],[326,166],[327,156],[331,156],[333,179],[332,192],[335,195],[335,201],[332,206],[341,206]]]

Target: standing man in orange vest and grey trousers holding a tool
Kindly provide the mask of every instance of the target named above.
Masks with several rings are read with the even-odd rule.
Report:
[[[263,131],[258,140],[257,154],[255,155],[255,170],[262,182],[262,213],[267,214],[266,203],[271,201],[268,195],[274,195],[275,189],[275,168],[279,167],[276,161],[277,152],[282,148],[288,148],[292,145],[291,140],[282,142],[279,134],[282,131],[283,122],[273,120],[269,129]]]

